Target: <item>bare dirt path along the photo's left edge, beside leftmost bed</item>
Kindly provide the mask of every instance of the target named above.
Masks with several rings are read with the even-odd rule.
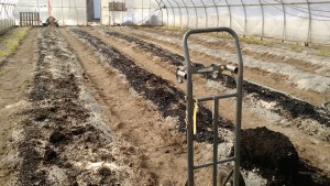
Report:
[[[36,30],[30,30],[18,52],[0,67],[0,185],[15,183],[18,145],[22,140],[25,119],[19,112],[30,105],[26,97],[33,80],[36,50]]]

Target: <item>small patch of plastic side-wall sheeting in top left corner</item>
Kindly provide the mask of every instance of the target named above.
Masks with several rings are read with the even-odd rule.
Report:
[[[0,34],[15,25],[14,10],[15,1],[0,0]]]

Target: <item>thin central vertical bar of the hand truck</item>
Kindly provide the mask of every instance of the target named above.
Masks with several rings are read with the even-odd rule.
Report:
[[[213,106],[213,186],[218,180],[218,120],[219,120],[219,99],[215,98]]]

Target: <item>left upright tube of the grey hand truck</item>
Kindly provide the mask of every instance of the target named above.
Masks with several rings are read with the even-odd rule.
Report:
[[[193,81],[191,81],[191,65],[190,56],[188,52],[188,36],[186,33],[184,36],[184,52],[187,65],[187,147],[188,147],[188,186],[194,186],[194,127],[193,127]]]

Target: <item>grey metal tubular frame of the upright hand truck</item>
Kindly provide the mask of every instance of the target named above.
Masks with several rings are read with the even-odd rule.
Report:
[[[193,74],[200,74],[200,73],[210,73],[212,70],[218,70],[213,66],[209,68],[197,68],[191,66],[190,64],[190,55],[188,48],[188,37],[191,34],[197,33],[209,33],[209,32],[227,32],[234,39],[235,51],[238,54],[238,68],[226,68],[222,66],[222,69],[231,70],[234,74],[234,80],[237,83],[237,92],[229,94],[229,95],[217,95],[211,97],[204,97],[204,98],[193,98]],[[227,162],[234,162],[233,172],[231,172],[224,180],[224,184],[229,180],[229,178],[233,174],[233,185],[239,186],[240,182],[240,141],[241,141],[241,119],[242,119],[242,85],[243,85],[243,58],[241,54],[241,47],[239,43],[239,37],[237,33],[230,28],[210,28],[210,29],[196,29],[186,32],[183,39],[183,46],[184,46],[184,54],[185,54],[185,62],[186,67],[184,68],[185,75],[178,75],[179,73],[183,74],[183,70],[177,72],[177,77],[180,76],[183,79],[186,79],[186,110],[187,110],[187,149],[188,149],[188,186],[194,186],[194,171],[206,167],[206,166],[213,166],[213,186],[217,186],[218,183],[218,164],[227,163]],[[211,68],[211,69],[210,69]],[[220,67],[221,68],[221,67]],[[220,69],[219,68],[219,69]],[[206,69],[206,70],[205,70]],[[208,70],[209,69],[209,70]],[[218,120],[219,120],[219,99],[224,98],[237,98],[237,106],[235,106],[235,128],[234,128],[234,155],[232,157],[223,158],[218,161]],[[213,107],[213,162],[205,163],[201,165],[194,165],[194,101],[215,101]]]

